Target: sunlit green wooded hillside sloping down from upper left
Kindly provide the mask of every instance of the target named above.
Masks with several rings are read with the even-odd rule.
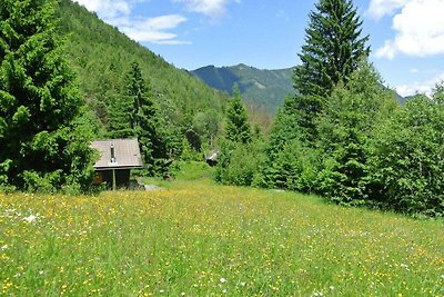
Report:
[[[60,2],[58,17],[61,33],[68,34],[67,56],[79,75],[81,91],[104,127],[110,101],[122,96],[125,73],[133,61],[150,81],[167,122],[176,127],[190,125],[195,117],[219,119],[223,93],[176,69],[70,0]]]

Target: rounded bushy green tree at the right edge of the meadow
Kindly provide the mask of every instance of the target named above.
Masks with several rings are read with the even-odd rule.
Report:
[[[444,215],[443,86],[382,126],[371,162],[374,200],[408,214]]]

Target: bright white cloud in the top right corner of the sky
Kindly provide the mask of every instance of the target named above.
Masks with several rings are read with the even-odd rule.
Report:
[[[375,17],[402,8],[393,18],[396,36],[376,50],[377,58],[393,59],[398,53],[426,57],[444,53],[444,0],[372,0],[369,13]],[[396,2],[396,3],[395,3]],[[390,4],[392,3],[392,4]]]

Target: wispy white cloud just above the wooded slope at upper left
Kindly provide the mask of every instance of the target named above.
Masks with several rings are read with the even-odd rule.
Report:
[[[186,21],[180,14],[167,14],[155,18],[133,17],[132,10],[137,2],[147,0],[74,0],[88,10],[94,11],[105,22],[115,26],[131,39],[139,42],[158,44],[185,44],[188,41],[178,39],[171,30]]]

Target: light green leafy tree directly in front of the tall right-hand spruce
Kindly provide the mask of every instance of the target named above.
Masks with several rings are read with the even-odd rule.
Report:
[[[346,87],[337,87],[319,118],[319,147],[323,154],[319,190],[340,204],[369,199],[371,139],[396,108],[394,92],[382,87],[374,70],[362,66]]]

